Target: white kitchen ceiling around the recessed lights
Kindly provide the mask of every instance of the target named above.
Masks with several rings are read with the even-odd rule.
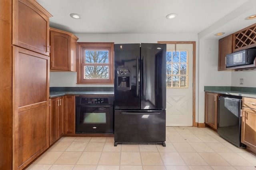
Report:
[[[256,23],[256,0],[37,0],[50,27],[84,34],[199,34],[219,39]],[[73,19],[78,13],[82,19]],[[167,20],[170,13],[178,17]],[[224,36],[214,34],[225,32]]]

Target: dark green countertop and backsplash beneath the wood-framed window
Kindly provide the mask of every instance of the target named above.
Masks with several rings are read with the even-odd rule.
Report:
[[[113,95],[113,87],[50,87],[50,99],[64,95]]]

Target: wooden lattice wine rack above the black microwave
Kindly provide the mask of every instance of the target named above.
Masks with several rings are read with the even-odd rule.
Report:
[[[233,52],[256,46],[256,24],[233,34]]]

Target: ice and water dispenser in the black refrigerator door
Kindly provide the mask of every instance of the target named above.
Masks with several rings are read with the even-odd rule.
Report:
[[[117,89],[130,90],[131,89],[131,69],[128,67],[117,68]]]

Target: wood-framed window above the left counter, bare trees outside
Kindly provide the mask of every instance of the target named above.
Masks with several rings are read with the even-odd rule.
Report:
[[[77,84],[114,83],[114,43],[78,42]]]

